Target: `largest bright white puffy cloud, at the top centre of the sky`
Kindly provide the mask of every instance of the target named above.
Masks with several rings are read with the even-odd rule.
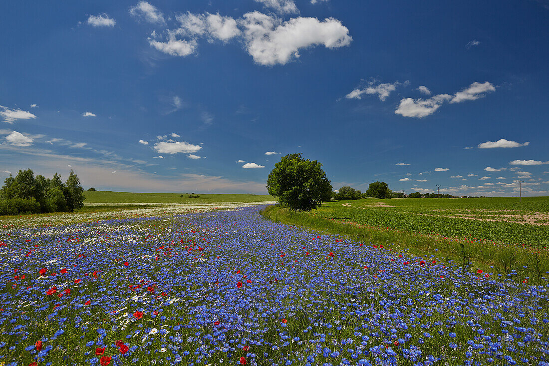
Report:
[[[299,58],[299,49],[323,45],[338,48],[350,45],[349,29],[341,21],[327,18],[292,18],[282,20],[260,12],[243,15],[245,47],[257,64],[287,64]]]

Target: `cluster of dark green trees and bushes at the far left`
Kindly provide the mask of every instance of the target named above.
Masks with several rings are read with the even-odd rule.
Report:
[[[0,215],[20,213],[73,212],[84,206],[84,189],[71,170],[63,183],[57,173],[53,178],[34,176],[31,169],[10,174],[0,190]]]

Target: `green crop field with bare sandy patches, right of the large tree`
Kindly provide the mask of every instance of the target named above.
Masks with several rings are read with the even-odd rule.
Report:
[[[402,198],[328,202],[318,217],[479,242],[549,245],[549,197]]]

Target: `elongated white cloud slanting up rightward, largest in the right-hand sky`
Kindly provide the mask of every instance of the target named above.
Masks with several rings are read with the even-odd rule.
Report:
[[[496,88],[488,81],[484,83],[475,81],[454,95],[438,94],[428,99],[402,98],[399,107],[395,110],[395,114],[400,114],[403,117],[427,117],[435,113],[445,102],[461,103],[464,101],[473,101],[484,97],[485,93],[495,90]]]

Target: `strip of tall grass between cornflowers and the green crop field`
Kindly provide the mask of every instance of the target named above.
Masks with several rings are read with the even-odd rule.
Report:
[[[443,239],[408,231],[341,223],[318,217],[315,212],[295,212],[279,206],[269,206],[261,214],[276,223],[346,235],[374,245],[391,245],[396,251],[407,249],[417,256],[435,255],[460,263],[470,271],[481,269],[485,273],[526,280],[530,284],[545,284],[549,273],[549,252],[539,248]]]

